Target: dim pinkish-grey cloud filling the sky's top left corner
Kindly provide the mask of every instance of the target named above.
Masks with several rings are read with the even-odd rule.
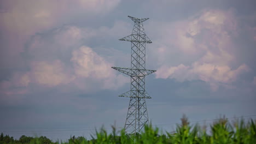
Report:
[[[75,0],[75,1],[4,1],[0,19],[9,31],[22,35],[33,34],[67,21],[78,13],[107,13],[118,5],[119,0]],[[29,5],[27,3],[30,3]],[[64,20],[63,18],[66,18]]]

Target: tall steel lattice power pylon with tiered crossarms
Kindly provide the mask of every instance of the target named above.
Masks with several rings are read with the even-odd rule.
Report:
[[[145,77],[156,70],[146,69],[146,43],[152,43],[152,41],[147,37],[142,22],[149,18],[128,17],[134,21],[132,33],[119,40],[131,42],[131,68],[112,68],[131,77],[131,90],[119,95],[119,97],[130,98],[125,131],[127,134],[136,135],[142,130],[144,124],[149,123],[146,99],[151,97],[145,90]]]

